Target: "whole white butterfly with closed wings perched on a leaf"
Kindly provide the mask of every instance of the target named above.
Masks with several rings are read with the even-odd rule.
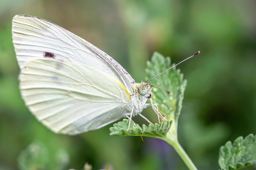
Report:
[[[131,120],[148,106],[160,114],[146,103],[149,81],[136,83],[112,57],[59,25],[16,15],[12,34],[22,98],[54,132],[75,135]]]

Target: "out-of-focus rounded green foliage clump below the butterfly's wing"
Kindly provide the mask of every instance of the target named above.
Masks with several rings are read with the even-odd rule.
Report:
[[[69,155],[64,150],[55,153],[50,159],[48,149],[42,143],[31,143],[20,152],[18,156],[18,166],[21,170],[64,170],[69,163]]]

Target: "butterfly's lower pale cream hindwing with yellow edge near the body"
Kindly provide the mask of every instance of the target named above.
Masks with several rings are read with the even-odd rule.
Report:
[[[40,122],[57,133],[78,134],[122,118],[126,88],[94,68],[59,59],[36,59],[20,75],[21,94]]]

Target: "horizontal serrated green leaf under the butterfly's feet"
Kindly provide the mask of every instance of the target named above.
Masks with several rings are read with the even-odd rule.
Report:
[[[142,128],[131,120],[130,129],[127,132],[129,119],[123,119],[123,122],[118,122],[114,124],[114,127],[110,128],[110,135],[120,135],[120,136],[147,136],[147,137],[156,137],[162,138],[166,136],[166,133],[170,129],[172,121],[170,122],[161,122],[159,124],[149,124],[148,126],[142,125]]]

